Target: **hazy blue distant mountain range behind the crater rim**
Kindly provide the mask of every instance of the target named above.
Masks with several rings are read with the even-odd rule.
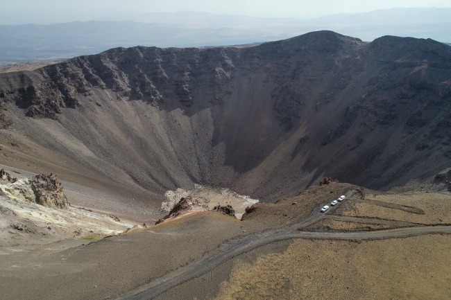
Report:
[[[451,8],[395,8],[316,19],[152,12],[108,20],[0,26],[0,62],[55,60],[117,46],[196,47],[270,42],[334,30],[371,42],[383,35],[451,42]]]

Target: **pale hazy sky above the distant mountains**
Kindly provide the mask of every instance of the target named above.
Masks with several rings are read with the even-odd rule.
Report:
[[[121,12],[194,10],[259,17],[321,17],[397,7],[448,7],[451,0],[0,0],[0,24],[108,19]]]

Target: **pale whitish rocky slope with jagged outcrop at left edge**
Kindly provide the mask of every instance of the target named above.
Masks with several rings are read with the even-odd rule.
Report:
[[[121,222],[114,215],[70,206],[53,175],[38,175],[42,180],[6,175],[0,178],[0,254],[35,249],[36,245],[67,238],[95,240],[135,225]],[[46,184],[46,178],[54,184]]]

